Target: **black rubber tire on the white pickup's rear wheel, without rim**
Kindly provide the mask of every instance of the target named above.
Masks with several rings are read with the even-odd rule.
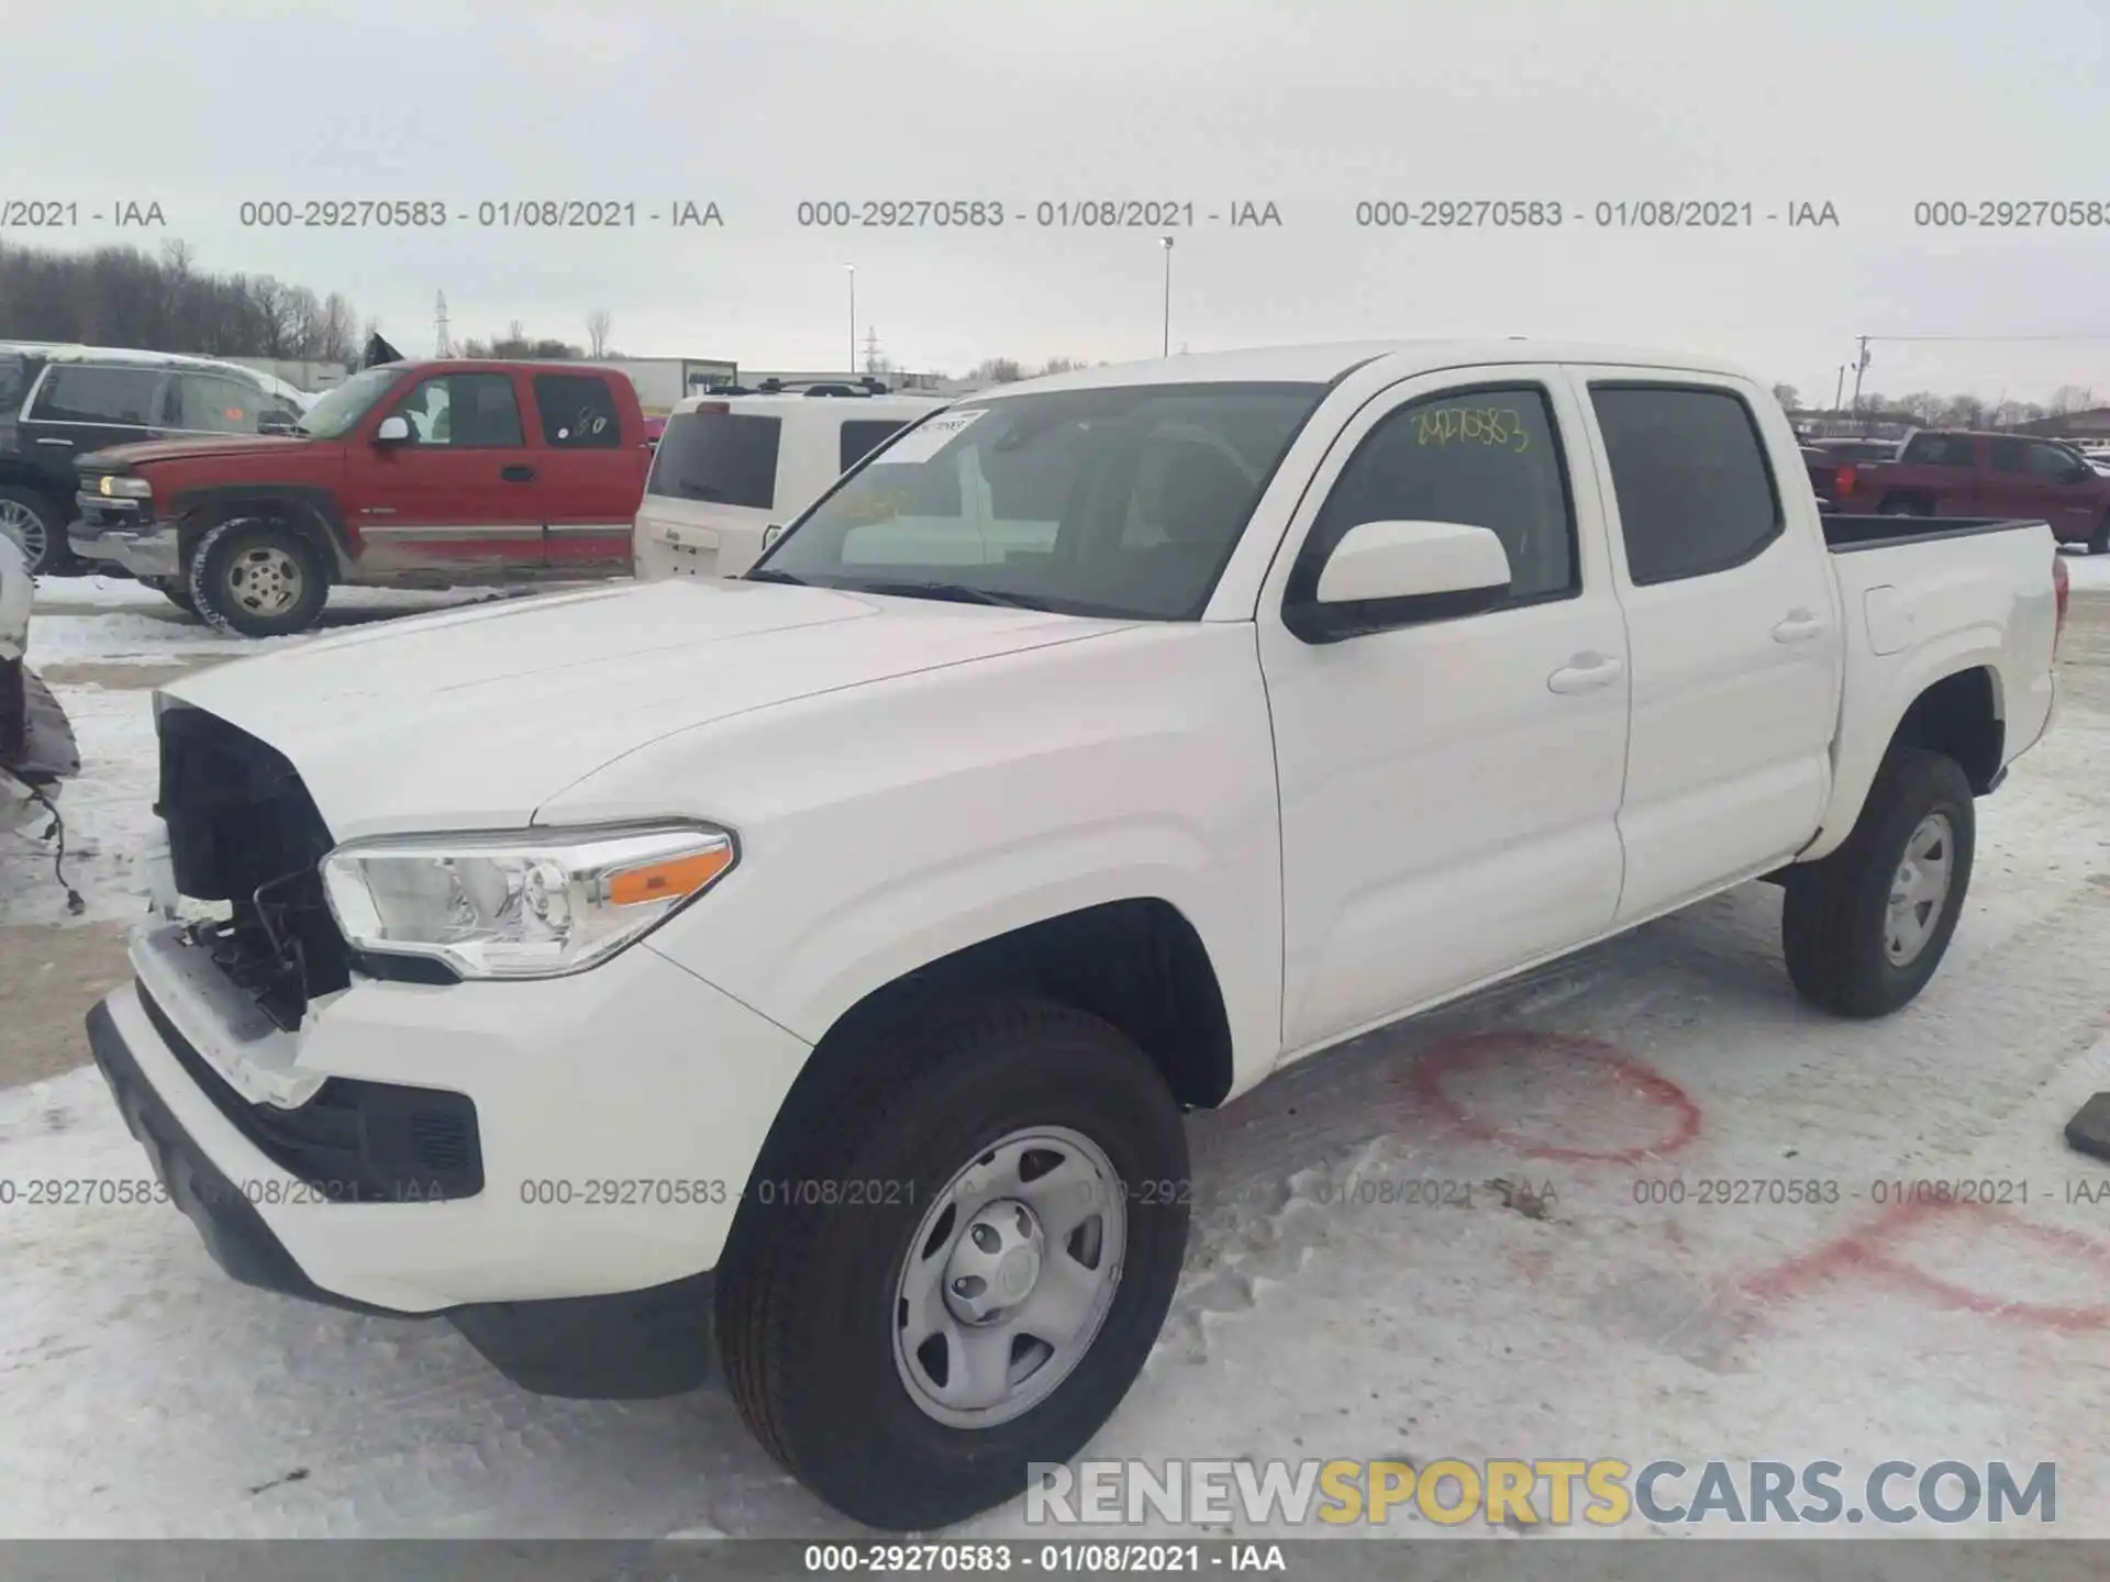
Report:
[[[1905,844],[1933,814],[1950,821],[1950,880],[1918,953],[1891,960],[1886,915]],[[1941,966],[1971,888],[1977,842],[1971,783],[1956,759],[1916,747],[1891,753],[1846,844],[1787,871],[1781,945],[1787,977],[1810,1004],[1838,1017],[1886,1017],[1910,1004]]]

